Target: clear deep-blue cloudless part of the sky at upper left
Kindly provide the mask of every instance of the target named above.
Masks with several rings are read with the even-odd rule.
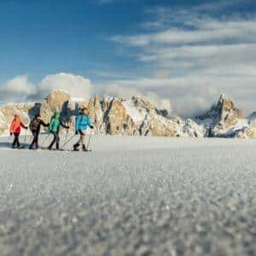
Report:
[[[123,60],[109,38],[137,32],[144,7],[132,1],[2,0],[1,79],[26,73],[37,80],[61,71],[98,79],[96,71],[136,70],[136,61]]]

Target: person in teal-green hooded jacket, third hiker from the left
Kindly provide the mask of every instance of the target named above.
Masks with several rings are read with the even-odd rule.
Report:
[[[64,125],[63,122],[61,121],[60,113],[55,111],[54,116],[51,118],[50,123],[49,123],[49,131],[53,134],[54,139],[53,141],[49,144],[48,149],[51,150],[52,146],[56,143],[56,149],[60,149],[60,137],[59,137],[59,132],[60,132],[60,127],[64,127],[66,129],[69,129],[69,126]]]

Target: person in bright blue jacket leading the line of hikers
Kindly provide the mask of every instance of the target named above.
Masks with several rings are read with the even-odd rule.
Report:
[[[76,134],[80,135],[78,143],[73,145],[74,151],[79,151],[79,146],[82,144],[82,150],[88,151],[88,148],[85,146],[85,130],[90,127],[90,129],[93,129],[93,125],[90,121],[90,116],[88,112],[88,108],[82,108],[81,113],[76,118]]]

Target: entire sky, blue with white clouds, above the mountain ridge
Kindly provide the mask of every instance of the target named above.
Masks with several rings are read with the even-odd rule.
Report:
[[[255,13],[253,0],[1,0],[0,101],[61,88],[193,115],[224,92],[249,113]]]

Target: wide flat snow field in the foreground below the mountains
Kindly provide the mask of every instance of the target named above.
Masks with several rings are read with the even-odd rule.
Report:
[[[1,256],[256,254],[255,140],[99,136],[86,154],[8,140]]]

